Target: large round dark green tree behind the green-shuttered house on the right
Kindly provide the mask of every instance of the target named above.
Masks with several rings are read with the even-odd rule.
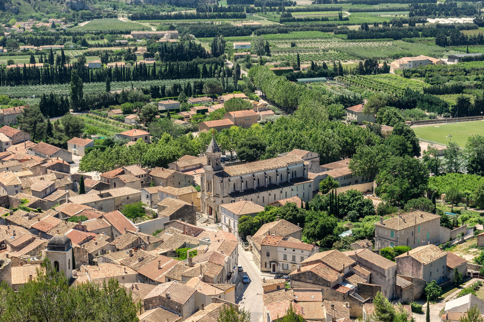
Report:
[[[418,159],[393,157],[380,170],[375,192],[391,205],[400,205],[423,195],[428,176],[427,167]]]

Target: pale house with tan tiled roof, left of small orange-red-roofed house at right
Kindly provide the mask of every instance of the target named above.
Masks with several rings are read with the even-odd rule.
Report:
[[[420,246],[395,257],[397,274],[431,280],[441,284],[447,280],[447,253],[432,245]]]

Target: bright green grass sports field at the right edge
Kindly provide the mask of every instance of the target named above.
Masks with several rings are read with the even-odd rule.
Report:
[[[464,147],[470,135],[484,135],[484,121],[436,124],[413,128],[413,131],[421,139],[444,144],[445,137],[451,134],[452,142],[457,142],[459,146]]]

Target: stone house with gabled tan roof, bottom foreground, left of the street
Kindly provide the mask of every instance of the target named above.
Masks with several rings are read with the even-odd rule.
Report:
[[[196,311],[195,293],[193,287],[177,281],[157,285],[143,299],[145,310],[165,307],[186,320]]]

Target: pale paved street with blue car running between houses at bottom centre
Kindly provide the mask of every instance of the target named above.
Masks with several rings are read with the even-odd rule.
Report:
[[[247,275],[250,283],[243,284],[241,296],[235,301],[241,307],[250,310],[250,321],[257,322],[262,316],[262,283],[260,274],[254,263],[249,260],[252,256],[250,251],[244,251],[239,245],[239,265],[242,265],[243,271],[239,272],[239,277]]]

